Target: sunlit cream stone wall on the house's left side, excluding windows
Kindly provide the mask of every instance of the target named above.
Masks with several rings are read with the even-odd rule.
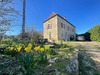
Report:
[[[47,29],[48,24],[51,24],[51,29]],[[44,28],[44,39],[55,40],[57,41],[58,38],[58,32],[57,32],[57,16],[53,17],[52,19],[49,19],[48,21],[44,22],[43,25]],[[49,38],[49,34],[51,33],[51,39]]]

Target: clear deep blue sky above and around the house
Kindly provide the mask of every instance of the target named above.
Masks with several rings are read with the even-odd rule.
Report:
[[[16,0],[15,8],[22,11],[23,0]],[[43,31],[43,21],[53,12],[66,16],[66,20],[76,27],[76,33],[82,34],[100,24],[100,0],[26,0],[26,24]],[[18,23],[22,25],[22,17]],[[13,28],[8,35],[17,35],[21,26]]]

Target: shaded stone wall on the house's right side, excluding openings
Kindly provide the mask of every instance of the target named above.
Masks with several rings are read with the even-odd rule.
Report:
[[[61,28],[61,23],[65,24],[65,29]],[[57,25],[58,25],[58,40],[66,40],[65,39],[66,33],[67,33],[67,41],[70,41],[70,35],[74,35],[74,38],[76,39],[75,27],[70,25],[68,22],[66,22],[64,19],[62,19],[59,16],[57,16]],[[68,26],[69,26],[69,30],[68,30]],[[74,32],[72,31],[72,29],[74,29]]]

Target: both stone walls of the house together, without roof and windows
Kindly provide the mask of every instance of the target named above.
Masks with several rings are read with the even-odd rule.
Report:
[[[65,24],[65,29],[61,28],[61,23]],[[51,29],[47,29],[47,26],[49,24],[52,25]],[[68,30],[68,26],[69,26],[69,30]],[[51,40],[54,40],[56,42],[59,40],[70,41],[71,35],[74,35],[74,40],[76,40],[75,27],[73,27],[71,24],[66,22],[64,19],[62,19],[58,15],[44,22],[43,28],[44,28],[44,39],[48,39],[48,41],[51,41]],[[74,31],[72,31],[72,29]],[[51,33],[51,38],[50,38],[50,33]]]

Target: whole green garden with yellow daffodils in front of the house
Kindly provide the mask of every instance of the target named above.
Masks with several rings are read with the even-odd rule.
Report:
[[[36,43],[34,39],[2,39],[0,42],[0,75],[70,75],[77,51],[59,43]]]

